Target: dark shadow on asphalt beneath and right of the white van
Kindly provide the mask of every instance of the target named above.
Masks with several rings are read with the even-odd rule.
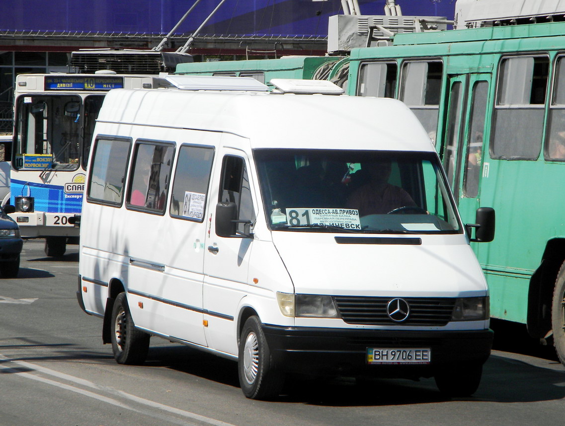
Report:
[[[551,364],[551,363],[549,363]],[[237,363],[185,346],[152,346],[146,366],[166,367],[181,373],[239,387]],[[453,401],[538,402],[565,398],[565,371],[534,366],[497,352],[486,362],[479,390],[469,398]],[[310,379],[290,377],[279,403],[318,406],[391,406],[450,402],[432,379],[352,378]]]

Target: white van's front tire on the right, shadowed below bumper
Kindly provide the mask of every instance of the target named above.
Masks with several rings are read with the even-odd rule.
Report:
[[[479,388],[482,365],[445,368],[436,374],[437,388],[448,397],[468,397]]]

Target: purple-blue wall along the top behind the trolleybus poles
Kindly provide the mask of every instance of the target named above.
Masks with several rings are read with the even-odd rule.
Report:
[[[0,30],[168,33],[195,0],[0,0]],[[363,15],[383,15],[385,0],[358,0]],[[447,16],[455,0],[397,0],[403,15]],[[177,32],[192,33],[219,0],[201,0]],[[227,0],[200,34],[326,36],[340,0]]]

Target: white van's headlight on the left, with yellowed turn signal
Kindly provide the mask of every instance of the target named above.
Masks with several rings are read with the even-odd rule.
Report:
[[[277,301],[285,317],[340,318],[332,296],[277,293]]]

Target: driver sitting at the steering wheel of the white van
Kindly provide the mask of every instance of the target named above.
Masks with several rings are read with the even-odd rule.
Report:
[[[379,160],[364,164],[370,181],[359,187],[347,199],[347,208],[358,209],[359,216],[386,214],[394,209],[415,206],[412,197],[401,187],[390,185],[390,161]]]

